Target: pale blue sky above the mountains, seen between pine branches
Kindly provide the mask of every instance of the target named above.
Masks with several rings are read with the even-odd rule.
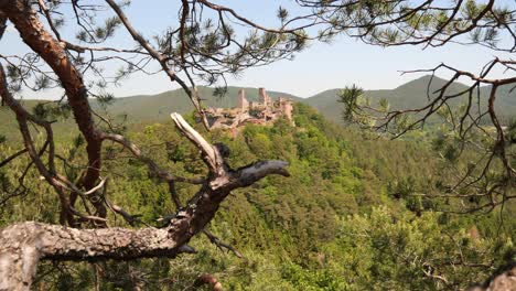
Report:
[[[138,31],[147,37],[151,37],[152,34],[166,28],[168,23],[176,23],[178,2],[133,0],[127,14]],[[273,26],[277,24],[275,18],[277,8],[280,4],[291,8],[292,2],[226,0],[218,3],[233,7],[251,20]],[[69,33],[65,28],[65,35],[73,35]],[[26,50],[13,29],[8,30],[1,42],[0,54],[14,54]],[[131,40],[121,31],[114,42],[129,44]],[[286,91],[300,97],[309,97],[325,89],[340,88],[351,84],[357,84],[366,89],[389,89],[421,76],[416,74],[401,76],[400,71],[430,68],[443,62],[464,71],[477,73],[482,65],[494,56],[494,52],[481,46],[450,44],[440,48],[427,50],[422,50],[421,46],[383,48],[341,36],[331,44],[311,44],[309,48],[297,54],[293,61],[281,61],[270,66],[251,68],[238,78],[229,77],[228,84],[243,87],[266,87],[269,90]],[[447,75],[441,76],[445,77]],[[152,76],[137,74],[123,82],[121,86],[110,88],[110,91],[115,93],[116,96],[130,96],[155,94],[174,88],[178,86],[171,84],[164,74]],[[45,94],[45,96],[51,95],[55,95],[55,93]],[[42,97],[40,94],[34,95],[29,91],[25,91],[24,96],[29,98]]]

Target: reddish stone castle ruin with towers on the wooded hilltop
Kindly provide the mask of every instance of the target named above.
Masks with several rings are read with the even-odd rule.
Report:
[[[265,88],[258,89],[258,101],[249,101],[246,91],[240,89],[237,106],[234,108],[208,108],[205,112],[211,128],[237,129],[246,123],[271,125],[286,118],[293,126],[292,101],[286,98],[272,100]]]

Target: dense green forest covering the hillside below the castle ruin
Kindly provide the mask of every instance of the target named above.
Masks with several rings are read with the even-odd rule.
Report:
[[[211,225],[244,258],[198,236],[192,244],[198,252],[175,260],[98,262],[97,268],[42,262],[35,288],[89,290],[101,278],[100,290],[135,284],[184,290],[201,273],[212,273],[227,290],[451,289],[482,282],[514,261],[514,205],[486,215],[455,216],[436,212],[445,201],[415,195],[438,191],[441,161],[428,142],[390,141],[338,127],[304,105],[295,107],[295,125],[286,120],[273,127],[249,125],[236,137],[205,132],[212,142],[228,146],[233,168],[260,159],[290,163],[291,177],[268,177],[236,192]],[[174,173],[204,174],[197,151],[171,123],[140,125],[130,132]],[[9,141],[0,147],[2,155],[14,151]],[[78,151],[85,147],[82,139],[58,147],[67,153],[63,158],[85,163]],[[168,186],[155,184],[146,165],[115,144],[104,155],[108,198],[138,214],[136,225],[159,226],[160,218],[174,213]],[[1,186],[12,187],[23,168],[19,160],[1,172]],[[71,181],[77,179],[77,170],[62,170]],[[28,191],[0,207],[0,225],[26,219],[58,223],[58,205],[49,198],[54,194],[32,171],[25,177]],[[195,187],[178,185],[183,203]],[[126,226],[115,215],[112,219]]]

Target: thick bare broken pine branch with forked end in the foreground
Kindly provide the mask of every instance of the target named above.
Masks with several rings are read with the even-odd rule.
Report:
[[[209,144],[178,114],[178,129],[202,152],[209,168],[201,190],[180,209],[165,228],[76,229],[26,222],[0,231],[0,290],[29,290],[37,262],[49,260],[131,260],[147,257],[173,258],[215,216],[230,191],[248,186],[270,174],[289,175],[283,161],[265,161],[233,170],[218,147]]]

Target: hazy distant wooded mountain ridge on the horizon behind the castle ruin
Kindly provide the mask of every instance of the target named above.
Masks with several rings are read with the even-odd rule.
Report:
[[[418,79],[410,80],[395,89],[383,90],[366,90],[365,95],[373,101],[378,101],[386,98],[391,109],[419,108],[428,103],[427,90],[433,91],[447,83],[445,79],[433,77],[432,84],[429,87],[430,76],[423,76]],[[467,87],[461,83],[454,83],[449,87],[450,93],[460,93]],[[496,109],[503,120],[516,117],[516,91],[510,90],[509,86],[498,88],[496,99]],[[214,88],[198,87],[198,93],[204,99],[204,105],[208,107],[235,107],[237,104],[238,90],[240,87],[227,87],[227,94],[219,98],[213,96]],[[246,91],[248,100],[258,100],[258,88],[243,88]],[[301,98],[288,93],[268,91],[273,99],[279,97],[291,98],[297,103],[304,103],[316,108],[327,119],[335,122],[342,122],[342,105],[337,103],[338,91],[341,89],[329,89],[319,93],[309,98]],[[485,104],[490,87],[481,87],[481,101]],[[465,96],[456,98],[452,105],[458,106],[465,103]],[[24,100],[23,104],[30,109],[37,104],[37,100]],[[94,109],[100,110],[98,103],[95,99],[90,101]],[[485,105],[484,105],[485,106]],[[181,114],[191,112],[193,106],[182,89],[169,90],[157,95],[138,95],[116,98],[111,105],[107,107],[111,116],[128,116],[129,122],[157,122],[168,120],[170,112],[176,111]],[[12,134],[17,128],[12,112],[8,108],[0,108],[0,134]],[[69,128],[72,120],[56,123],[57,128]]]

